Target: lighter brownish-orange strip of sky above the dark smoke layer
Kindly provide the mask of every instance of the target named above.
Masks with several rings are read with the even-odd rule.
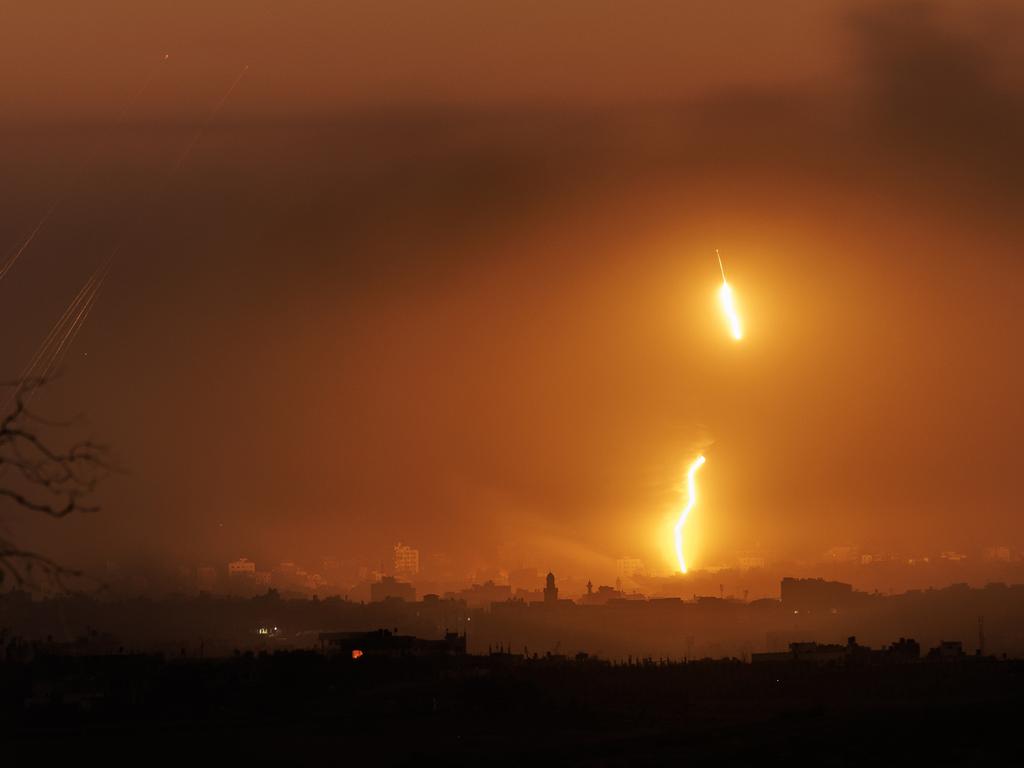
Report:
[[[734,84],[822,79],[839,65],[835,2],[40,2],[5,10],[13,113],[103,119],[133,68],[170,52],[153,109],[178,116],[241,63],[236,114],[359,105],[659,101]]]

